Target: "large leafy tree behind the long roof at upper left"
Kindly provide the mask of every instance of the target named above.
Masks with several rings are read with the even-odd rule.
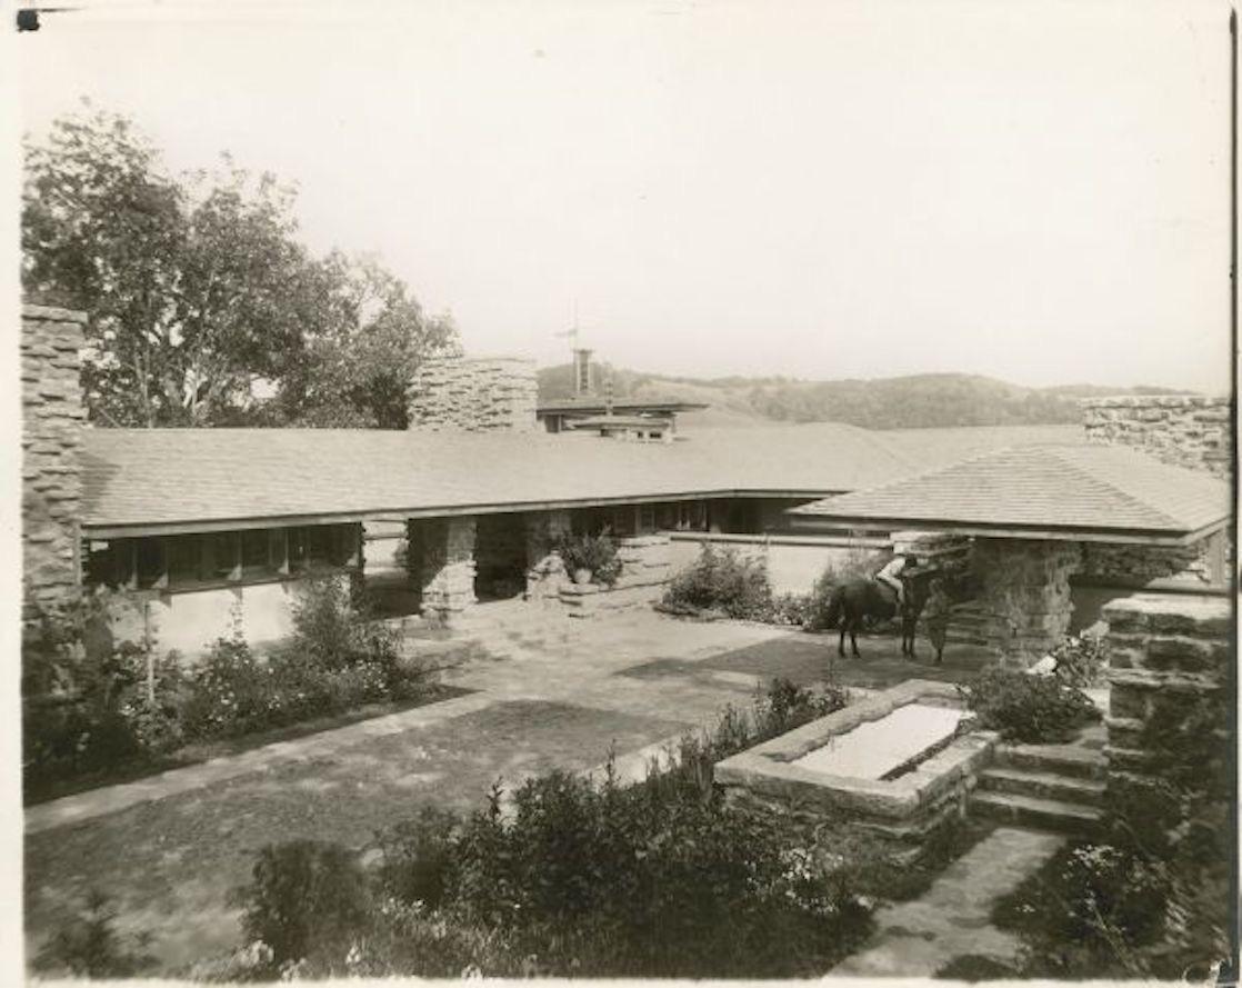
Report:
[[[296,190],[224,168],[170,176],[124,117],[26,149],[22,280],[91,314],[83,387],[108,425],[405,425],[405,382],[456,345],[378,262],[312,257]]]

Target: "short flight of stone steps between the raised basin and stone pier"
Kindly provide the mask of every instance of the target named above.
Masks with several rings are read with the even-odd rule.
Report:
[[[1089,836],[1103,819],[1107,762],[1078,744],[1000,744],[979,774],[971,813]]]

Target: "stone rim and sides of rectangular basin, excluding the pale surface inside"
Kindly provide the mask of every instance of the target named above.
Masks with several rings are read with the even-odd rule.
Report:
[[[907,860],[915,859],[939,828],[965,815],[976,774],[991,758],[995,733],[969,731],[970,721],[964,718],[956,732],[950,728],[941,739],[912,751],[902,767],[884,773],[892,778],[832,774],[797,763],[912,703],[961,710],[950,684],[909,680],[725,758],[715,766],[715,782],[730,803],[776,808],[810,824],[846,823],[893,843]],[[910,762],[915,763],[904,771]]]

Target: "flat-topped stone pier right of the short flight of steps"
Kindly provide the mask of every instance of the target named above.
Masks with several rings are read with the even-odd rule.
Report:
[[[1104,619],[1110,646],[1104,749],[1110,794],[1125,798],[1129,793],[1133,799],[1139,793],[1141,800],[1150,789],[1154,810],[1159,783],[1177,773],[1190,773],[1205,784],[1227,774],[1232,751],[1227,732],[1230,601],[1138,594],[1108,604]],[[1187,726],[1192,739],[1206,743],[1179,752],[1171,739]],[[1228,793],[1218,795],[1223,800]]]

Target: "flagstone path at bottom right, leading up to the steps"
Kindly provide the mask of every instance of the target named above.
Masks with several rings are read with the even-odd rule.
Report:
[[[1038,830],[997,828],[949,865],[923,896],[878,910],[874,936],[831,973],[930,978],[966,954],[1012,964],[1018,941],[991,925],[992,907],[1064,840]]]

